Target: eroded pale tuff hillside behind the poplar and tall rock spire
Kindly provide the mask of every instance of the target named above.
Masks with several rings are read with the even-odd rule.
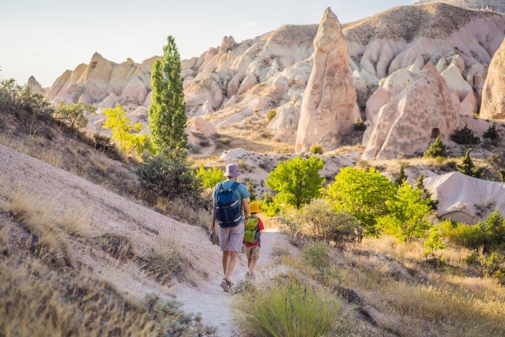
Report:
[[[218,130],[232,132],[245,123],[263,124],[266,112],[276,109],[269,131],[274,139],[292,144],[312,71],[317,27],[286,25],[240,43],[225,37],[221,46],[183,60],[188,116],[202,116]],[[342,28],[363,112],[382,78],[402,68],[416,73],[429,60],[438,62],[439,72],[457,65],[442,74],[449,89],[466,88],[479,101],[486,67],[505,35],[505,19],[496,13],[433,4],[396,7]],[[90,64],[63,73],[46,95],[54,102],[81,99],[99,108],[120,103],[131,119],[146,121],[150,65],[155,60],[116,64],[95,53]],[[31,82],[39,89],[36,81]],[[474,103],[470,113],[477,112],[477,106]],[[102,115],[92,116],[88,126],[99,130],[102,121]]]

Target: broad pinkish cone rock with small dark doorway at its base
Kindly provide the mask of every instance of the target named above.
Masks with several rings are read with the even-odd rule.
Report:
[[[447,140],[459,117],[459,100],[430,62],[380,108],[367,130],[362,158],[384,160],[423,152],[438,135]]]

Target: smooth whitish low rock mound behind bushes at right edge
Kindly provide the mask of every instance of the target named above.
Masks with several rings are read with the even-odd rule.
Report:
[[[496,208],[505,215],[505,184],[501,182],[450,172],[428,177],[423,183],[431,198],[438,200],[440,216],[476,223]]]

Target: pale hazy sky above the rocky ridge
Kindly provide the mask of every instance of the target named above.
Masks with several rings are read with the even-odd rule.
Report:
[[[49,86],[66,69],[106,59],[141,62],[175,36],[181,57],[198,56],[225,35],[241,41],[284,24],[318,23],[330,6],[341,23],[413,0],[98,1],[0,0],[0,77]]]

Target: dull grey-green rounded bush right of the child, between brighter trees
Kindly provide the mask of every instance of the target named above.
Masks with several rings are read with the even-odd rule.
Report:
[[[335,211],[322,200],[315,200],[301,211],[302,229],[309,236],[326,242],[346,243],[358,239],[360,224],[345,211]]]

